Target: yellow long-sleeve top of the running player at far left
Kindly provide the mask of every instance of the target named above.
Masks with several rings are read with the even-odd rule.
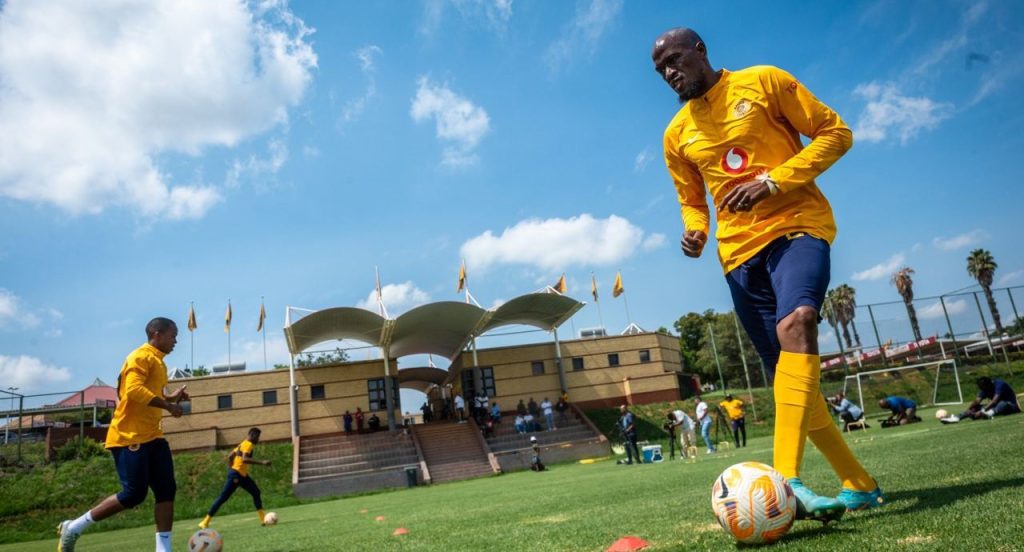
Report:
[[[106,430],[106,448],[141,444],[164,435],[160,420],[164,411],[151,407],[164,396],[167,366],[162,350],[146,343],[125,358],[118,377],[118,406]]]

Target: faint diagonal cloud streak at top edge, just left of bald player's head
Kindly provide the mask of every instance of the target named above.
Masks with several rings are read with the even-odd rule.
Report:
[[[578,2],[572,19],[544,54],[548,69],[557,72],[564,66],[570,65],[577,55],[593,56],[601,37],[614,23],[622,9],[623,0]]]

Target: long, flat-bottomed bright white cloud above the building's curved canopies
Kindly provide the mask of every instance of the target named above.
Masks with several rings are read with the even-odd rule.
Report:
[[[505,228],[501,236],[486,230],[464,243],[461,254],[474,270],[524,264],[554,271],[572,264],[614,264],[638,248],[649,251],[665,242],[664,235],[645,236],[643,229],[623,217],[600,219],[585,213],[567,219],[522,220]]]

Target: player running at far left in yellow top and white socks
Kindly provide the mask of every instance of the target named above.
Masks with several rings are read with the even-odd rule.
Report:
[[[125,359],[118,376],[118,406],[106,430],[106,450],[114,456],[121,492],[112,495],[77,519],[57,526],[57,552],[74,552],[75,543],[89,525],[122,510],[134,508],[153,489],[156,499],[157,552],[171,552],[174,521],[174,461],[160,428],[163,412],[181,416],[178,402],[188,399],[185,386],[164,393],[167,366],[164,356],[178,342],[178,328],[169,319],[153,319],[145,325],[147,342]]]

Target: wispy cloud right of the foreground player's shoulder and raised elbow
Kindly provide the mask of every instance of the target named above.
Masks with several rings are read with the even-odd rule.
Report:
[[[936,128],[953,112],[951,103],[904,95],[893,83],[861,84],[853,94],[866,101],[854,128],[854,136],[861,141],[878,142],[896,135],[905,144],[921,131]]]

